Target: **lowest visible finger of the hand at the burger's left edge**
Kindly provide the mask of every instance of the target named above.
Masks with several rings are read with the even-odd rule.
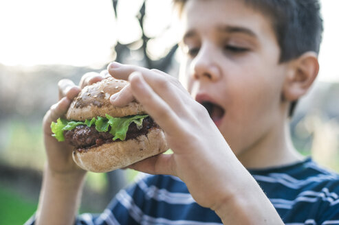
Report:
[[[51,123],[55,122],[58,118],[63,117],[63,115],[66,114],[70,104],[71,100],[69,100],[67,97],[63,97],[59,102],[51,106],[50,110],[46,112],[46,115],[43,118],[45,132],[52,134],[50,128]]]

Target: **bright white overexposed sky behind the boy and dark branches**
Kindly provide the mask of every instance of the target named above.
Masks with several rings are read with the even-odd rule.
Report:
[[[0,63],[102,66],[111,60],[116,38],[128,43],[140,35],[133,15],[142,0],[119,2],[119,20],[115,21],[111,0],[1,0]],[[171,20],[171,0],[148,0],[147,7],[151,9],[147,20],[151,28],[146,32],[157,35],[164,23]],[[325,33],[319,80],[339,82],[338,8],[339,1],[322,0]],[[150,44],[153,49],[161,49],[165,41],[162,38]]]

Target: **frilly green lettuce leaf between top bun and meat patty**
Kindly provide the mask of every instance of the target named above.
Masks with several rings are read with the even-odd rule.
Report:
[[[56,123],[52,122],[51,124],[51,130],[54,133],[52,136],[58,141],[65,141],[63,135],[65,130],[73,130],[79,125],[86,125],[88,127],[94,125],[99,132],[109,131],[109,133],[113,135],[113,141],[116,141],[117,139],[124,141],[124,139],[126,139],[127,130],[129,130],[129,125],[135,123],[138,128],[142,128],[142,121],[148,116],[149,115],[111,117],[106,114],[106,117],[93,117],[92,119],[86,119],[84,122],[59,118],[56,120]],[[109,127],[111,127],[111,130],[109,130]]]

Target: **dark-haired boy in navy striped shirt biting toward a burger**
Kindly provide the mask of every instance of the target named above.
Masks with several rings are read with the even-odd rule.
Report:
[[[111,103],[138,100],[173,150],[131,168],[173,176],[144,176],[102,215],[75,219],[85,171],[51,137],[50,123],[80,88],[102,78],[87,75],[79,87],[63,80],[61,100],[43,122],[48,163],[36,224],[339,224],[338,176],[300,156],[287,128],[292,103],[318,73],[318,1],[176,4],[190,94],[161,71],[108,68],[131,82]]]

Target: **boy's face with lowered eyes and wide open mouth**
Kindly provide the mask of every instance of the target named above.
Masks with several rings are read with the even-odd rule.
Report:
[[[240,156],[283,124],[287,66],[270,19],[239,0],[189,0],[182,14],[188,91]]]

